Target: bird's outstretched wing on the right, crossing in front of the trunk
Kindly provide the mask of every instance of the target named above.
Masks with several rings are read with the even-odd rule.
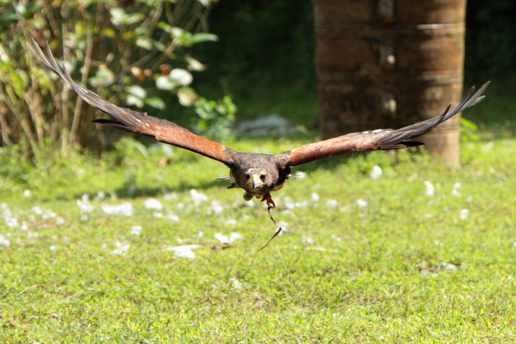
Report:
[[[482,96],[482,93],[488,86],[489,82],[484,84],[474,95],[473,92],[475,87],[472,87],[459,105],[451,110],[451,112],[448,112],[451,106],[449,105],[444,113],[439,117],[412,124],[412,126],[398,130],[378,129],[338,136],[304,145],[291,151],[278,154],[278,156],[288,166],[297,166],[314,160],[334,157],[335,155],[353,154],[372,150],[399,149],[423,145],[421,142],[405,140],[421,136],[455,114],[470,106],[478,104],[485,98],[485,96]]]

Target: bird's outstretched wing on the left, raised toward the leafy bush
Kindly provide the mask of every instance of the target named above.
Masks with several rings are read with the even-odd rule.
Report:
[[[147,114],[111,104],[95,93],[75,84],[66,68],[63,68],[63,72],[57,65],[48,43],[46,44],[48,58],[45,56],[34,38],[33,43],[36,50],[34,50],[30,44],[28,44],[29,48],[33,51],[34,55],[38,58],[39,63],[45,69],[59,75],[61,79],[65,80],[68,85],[73,88],[79,97],[84,99],[85,102],[114,118],[95,119],[93,122],[106,124],[107,126],[122,129],[131,133],[150,136],[156,141],[188,149],[192,152],[202,154],[205,157],[220,161],[228,166],[233,164],[233,157],[236,153],[235,151],[212,140],[193,134],[167,120],[147,116]]]

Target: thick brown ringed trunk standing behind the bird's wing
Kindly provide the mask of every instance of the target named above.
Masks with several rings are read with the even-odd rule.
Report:
[[[466,0],[314,0],[325,138],[436,117],[462,96]],[[459,164],[459,116],[422,137]]]

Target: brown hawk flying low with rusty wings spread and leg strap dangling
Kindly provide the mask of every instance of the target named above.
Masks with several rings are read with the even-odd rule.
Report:
[[[111,116],[110,119],[95,119],[93,122],[106,124],[109,127],[131,133],[149,136],[158,142],[188,149],[223,163],[230,169],[229,177],[216,179],[228,179],[231,183],[228,189],[235,187],[244,189],[244,199],[246,201],[251,200],[253,197],[266,201],[269,216],[270,209],[275,208],[270,193],[280,190],[288,177],[293,177],[291,175],[292,167],[319,159],[334,157],[336,155],[423,145],[420,142],[409,141],[409,139],[429,132],[438,124],[455,114],[478,104],[485,97],[482,96],[482,93],[489,85],[489,82],[486,83],[474,95],[475,87],[472,87],[469,92],[467,92],[464,99],[462,99],[459,105],[453,110],[449,111],[451,105],[448,105],[441,116],[412,124],[405,128],[397,130],[377,129],[342,135],[304,145],[276,155],[240,153],[212,140],[193,134],[167,120],[148,116],[145,113],[132,111],[128,108],[109,103],[95,93],[75,84],[66,68],[64,68],[65,66],[63,65],[63,70],[61,70],[57,65],[48,43],[46,44],[47,56],[45,56],[34,38],[33,43],[36,51],[32,49],[30,44],[29,47],[45,69],[59,75],[61,79],[67,82],[77,95],[83,98],[88,104]],[[274,221],[272,216],[270,217],[272,221]],[[276,232],[274,237],[276,237],[280,231],[281,228]]]

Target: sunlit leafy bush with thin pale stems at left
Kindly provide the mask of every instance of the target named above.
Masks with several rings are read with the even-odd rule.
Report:
[[[41,46],[49,43],[58,64],[64,64],[76,83],[108,101],[158,117],[168,108],[169,119],[176,122],[186,113],[189,124],[195,112],[185,112],[176,100],[195,107],[199,99],[190,84],[192,73],[205,66],[187,52],[195,44],[218,40],[206,32],[212,5],[213,0],[3,1],[0,147],[19,144],[25,157],[31,157],[47,145],[65,151],[77,144],[102,150],[111,143],[102,126],[92,133],[87,124],[99,111],[85,106],[29,54],[26,42],[33,38]],[[235,108],[229,97],[221,101]],[[218,121],[218,127],[223,123]]]

